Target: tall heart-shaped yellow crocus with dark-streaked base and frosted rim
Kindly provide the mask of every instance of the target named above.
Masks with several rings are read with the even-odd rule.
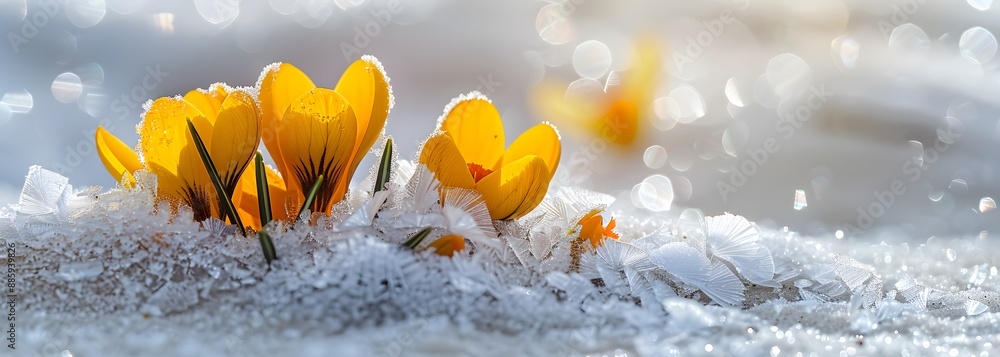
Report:
[[[344,198],[392,107],[392,89],[382,65],[375,57],[364,56],[331,90],[317,88],[295,66],[278,63],[264,69],[258,87],[264,145],[289,194],[304,201],[323,175],[310,209],[329,214],[333,204]]]

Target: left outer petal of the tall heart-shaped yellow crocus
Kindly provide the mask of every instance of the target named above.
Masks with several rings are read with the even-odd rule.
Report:
[[[285,167],[284,155],[281,154],[277,138],[282,126],[281,116],[285,114],[292,101],[316,88],[316,85],[305,73],[290,63],[278,63],[264,68],[264,73],[257,81],[257,88],[260,89],[258,99],[264,122],[261,139],[267,147],[267,152],[274,159],[278,171],[287,178],[289,172]]]

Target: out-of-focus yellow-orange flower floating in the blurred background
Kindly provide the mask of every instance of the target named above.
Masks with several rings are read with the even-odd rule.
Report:
[[[545,80],[531,95],[545,118],[620,145],[631,144],[646,125],[660,73],[660,54],[652,38],[640,39],[631,65],[622,76],[609,76],[603,93],[568,93],[565,83]]]

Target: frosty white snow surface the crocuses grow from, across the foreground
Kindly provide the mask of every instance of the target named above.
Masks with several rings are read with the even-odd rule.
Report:
[[[0,241],[17,251],[14,355],[988,356],[1000,344],[1000,255],[985,233],[913,244],[610,212],[621,238],[574,260],[569,232],[610,196],[553,188],[531,215],[489,222],[475,192],[439,204],[426,168],[396,162],[375,199],[369,177],[332,217],[270,225],[270,269],[255,236],[155,203],[149,174],[136,189],[74,190],[33,167],[0,210]],[[400,247],[428,226],[422,247]],[[456,232],[470,244],[453,258],[423,248]]]

